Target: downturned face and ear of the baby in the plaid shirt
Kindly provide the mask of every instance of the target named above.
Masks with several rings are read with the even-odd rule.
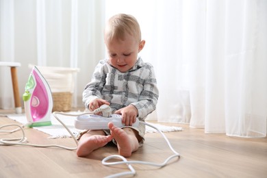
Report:
[[[138,43],[136,38],[127,34],[125,40],[114,39],[105,42],[105,45],[110,64],[125,73],[136,64],[138,53],[144,47],[144,40]]]

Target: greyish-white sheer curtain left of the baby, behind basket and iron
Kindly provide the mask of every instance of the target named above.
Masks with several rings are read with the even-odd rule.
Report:
[[[21,62],[20,94],[29,64],[79,68],[73,106],[82,106],[81,92],[95,64],[104,58],[104,1],[0,0],[0,61]],[[0,108],[12,108],[8,68],[0,68]]]

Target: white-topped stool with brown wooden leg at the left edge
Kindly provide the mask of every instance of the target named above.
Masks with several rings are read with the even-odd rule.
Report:
[[[0,66],[8,66],[10,67],[11,77],[12,77],[12,86],[13,86],[13,94],[14,94],[14,102],[15,102],[15,111],[17,114],[22,112],[21,110],[21,98],[18,90],[18,76],[16,74],[16,67],[21,66],[19,62],[0,62]]]

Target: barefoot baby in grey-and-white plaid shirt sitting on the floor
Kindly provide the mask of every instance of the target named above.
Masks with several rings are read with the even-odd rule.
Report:
[[[125,127],[108,123],[109,130],[84,131],[79,136],[78,156],[87,156],[112,141],[124,157],[142,146],[145,126],[133,127],[155,110],[159,92],[153,66],[138,53],[144,48],[138,21],[131,15],[117,14],[107,21],[104,34],[108,59],[97,64],[92,80],[83,92],[85,106],[93,111],[110,105],[113,114],[121,114]]]

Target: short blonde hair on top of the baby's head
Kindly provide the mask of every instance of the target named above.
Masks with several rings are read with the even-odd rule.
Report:
[[[105,41],[124,40],[126,34],[133,36],[138,42],[141,41],[141,30],[136,18],[129,14],[116,14],[107,21]]]

